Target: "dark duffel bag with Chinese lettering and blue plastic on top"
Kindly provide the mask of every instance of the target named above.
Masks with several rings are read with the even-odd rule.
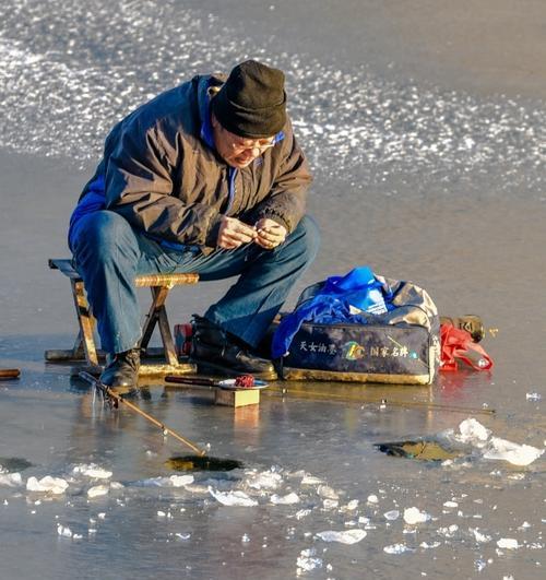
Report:
[[[273,335],[282,378],[430,384],[439,317],[426,291],[368,267],[306,288]]]

